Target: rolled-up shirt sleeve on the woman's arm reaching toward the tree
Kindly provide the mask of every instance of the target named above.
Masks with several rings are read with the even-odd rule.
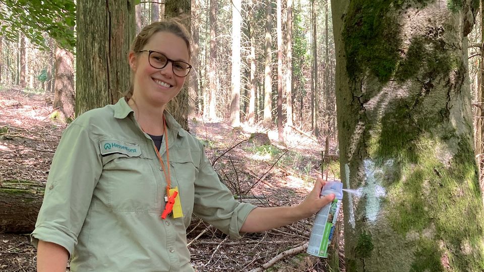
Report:
[[[250,203],[234,199],[202,152],[199,173],[195,180],[194,214],[231,238],[238,239],[240,228],[255,208]]]

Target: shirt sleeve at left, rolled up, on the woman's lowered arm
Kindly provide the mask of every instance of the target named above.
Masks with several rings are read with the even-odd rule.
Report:
[[[32,244],[38,240],[65,247],[70,254],[90,207],[102,171],[98,143],[76,122],[64,131],[55,151]]]

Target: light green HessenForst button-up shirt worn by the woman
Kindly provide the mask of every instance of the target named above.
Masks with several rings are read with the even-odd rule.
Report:
[[[193,271],[186,229],[192,213],[231,237],[255,206],[237,202],[202,144],[165,113],[171,186],[183,218],[164,209],[166,180],[153,141],[120,99],[79,116],[55,152],[35,230],[64,246],[72,271]],[[166,139],[163,139],[165,141]],[[166,166],[166,148],[160,154]]]

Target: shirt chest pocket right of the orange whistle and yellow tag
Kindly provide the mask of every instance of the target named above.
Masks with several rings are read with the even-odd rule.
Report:
[[[195,198],[195,179],[198,176],[200,151],[191,149],[170,150],[170,166],[173,169],[172,186],[178,186],[183,210],[184,221],[188,220],[193,212]],[[188,225],[187,225],[188,227]]]

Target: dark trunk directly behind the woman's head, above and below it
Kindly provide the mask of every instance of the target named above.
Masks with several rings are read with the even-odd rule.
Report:
[[[185,16],[191,14],[191,2],[190,0],[169,0],[165,2],[165,15],[166,17],[178,17],[178,16]],[[191,20],[190,17],[183,21],[185,27],[190,31],[191,29]],[[185,130],[189,130],[188,128],[188,85],[186,83],[178,95],[176,95],[175,99],[171,100],[166,109],[168,112],[173,115],[173,117],[178,121],[178,123],[183,127]]]

